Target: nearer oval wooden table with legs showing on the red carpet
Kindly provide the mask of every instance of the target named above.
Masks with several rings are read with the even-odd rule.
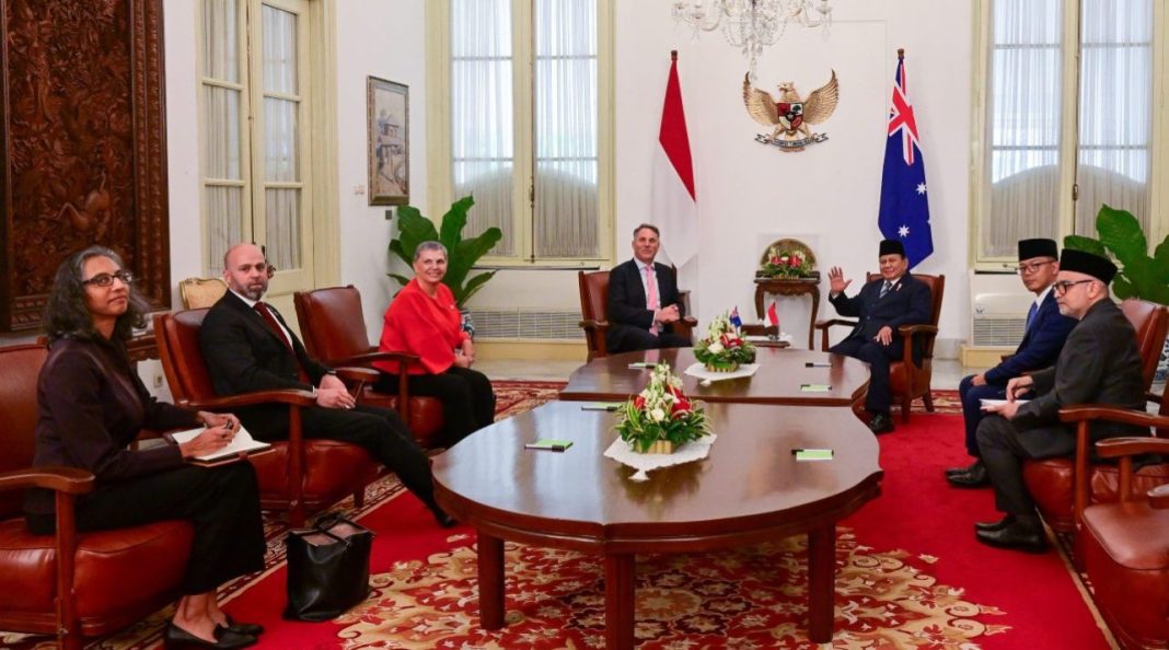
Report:
[[[880,493],[873,435],[849,409],[706,404],[718,440],[703,461],[629,479],[602,456],[615,413],[549,402],[437,456],[438,504],[478,531],[479,621],[504,624],[504,540],[604,555],[606,644],[634,646],[636,553],[690,553],[808,534],[809,637],[832,637],[836,523]],[[563,452],[526,450],[542,437]],[[796,462],[793,449],[832,449]]]

